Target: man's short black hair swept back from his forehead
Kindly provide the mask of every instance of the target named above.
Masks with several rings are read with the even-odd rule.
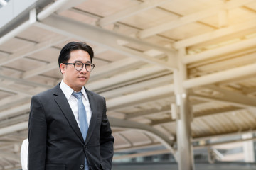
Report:
[[[73,50],[84,50],[88,52],[90,55],[90,62],[92,62],[93,58],[93,50],[92,47],[87,45],[85,42],[68,42],[61,50],[60,50],[60,55],[58,57],[58,64],[60,67],[60,63],[65,63],[70,60],[70,52]]]

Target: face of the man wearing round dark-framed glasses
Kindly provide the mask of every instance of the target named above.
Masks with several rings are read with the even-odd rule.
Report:
[[[70,52],[68,63],[91,62],[90,55],[84,50],[73,50]],[[74,68],[74,65],[60,64],[60,70],[63,73],[63,81],[74,91],[80,91],[90,78],[90,72],[87,72],[85,65],[80,71]]]

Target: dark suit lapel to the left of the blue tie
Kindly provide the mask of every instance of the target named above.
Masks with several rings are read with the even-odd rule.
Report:
[[[76,135],[80,138],[80,140],[83,141],[82,133],[80,132],[80,128],[78,127],[78,123],[75,120],[75,116],[73,114],[73,111],[70,108],[70,105],[68,103],[67,98],[65,98],[65,95],[63,94],[63,91],[60,89],[59,84],[55,86],[53,89],[53,94],[55,95],[55,101],[60,107],[61,111],[65,115],[65,118],[68,120],[68,123],[75,131]]]

